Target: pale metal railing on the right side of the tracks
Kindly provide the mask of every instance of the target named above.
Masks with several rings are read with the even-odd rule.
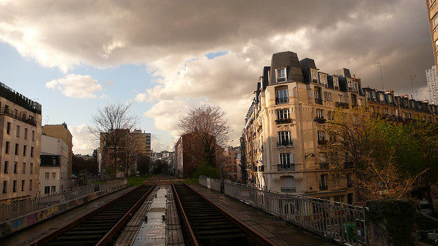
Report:
[[[200,177],[199,184],[207,187],[205,184],[208,184],[208,180]],[[224,193],[326,238],[350,245],[367,245],[365,207],[279,193],[229,181],[224,182]]]

